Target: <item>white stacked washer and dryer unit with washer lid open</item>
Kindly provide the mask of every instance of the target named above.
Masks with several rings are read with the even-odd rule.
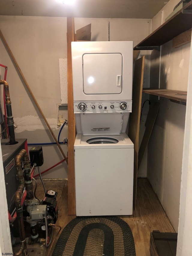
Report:
[[[132,215],[133,42],[72,42],[77,216]]]

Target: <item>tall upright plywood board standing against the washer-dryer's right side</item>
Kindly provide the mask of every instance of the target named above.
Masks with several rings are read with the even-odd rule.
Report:
[[[135,61],[134,77],[133,77],[133,104],[132,104],[132,113],[130,114],[129,130],[128,130],[128,136],[134,143],[134,193],[133,193],[134,208],[136,206],[136,195],[137,195],[139,130],[140,130],[144,62],[145,62],[145,56]]]

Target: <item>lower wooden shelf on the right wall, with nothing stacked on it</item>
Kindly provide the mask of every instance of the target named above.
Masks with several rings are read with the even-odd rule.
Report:
[[[186,102],[187,102],[187,92],[184,92],[184,91],[143,88],[142,92],[160,96],[163,98],[168,98],[170,99],[170,101],[173,101],[182,105],[186,105]]]

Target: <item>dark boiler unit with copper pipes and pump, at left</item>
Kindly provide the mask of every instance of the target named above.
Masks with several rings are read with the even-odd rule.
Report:
[[[35,190],[33,191],[32,179],[34,179],[33,175],[37,166],[41,166],[44,162],[42,147],[33,147],[29,151],[31,164],[33,165],[31,166],[29,164],[27,139],[15,140],[9,85],[5,80],[0,80],[0,84],[4,85],[5,90],[9,131],[9,140],[1,139],[1,149],[11,242],[14,245],[19,237],[19,251],[13,252],[13,254],[28,255],[27,244],[41,242],[48,247],[52,243],[52,227],[55,226],[58,217],[57,192],[53,190],[45,191],[44,200],[35,196],[37,184],[35,182]],[[3,119],[0,119],[1,123]],[[40,171],[39,175],[41,177]],[[42,178],[41,181],[43,183]],[[29,227],[31,232],[29,232]],[[39,231],[41,234],[39,234]],[[26,237],[26,234],[29,236]]]

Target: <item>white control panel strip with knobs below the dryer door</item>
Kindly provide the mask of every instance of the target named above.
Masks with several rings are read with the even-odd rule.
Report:
[[[132,101],[74,101],[74,113],[131,112]]]

